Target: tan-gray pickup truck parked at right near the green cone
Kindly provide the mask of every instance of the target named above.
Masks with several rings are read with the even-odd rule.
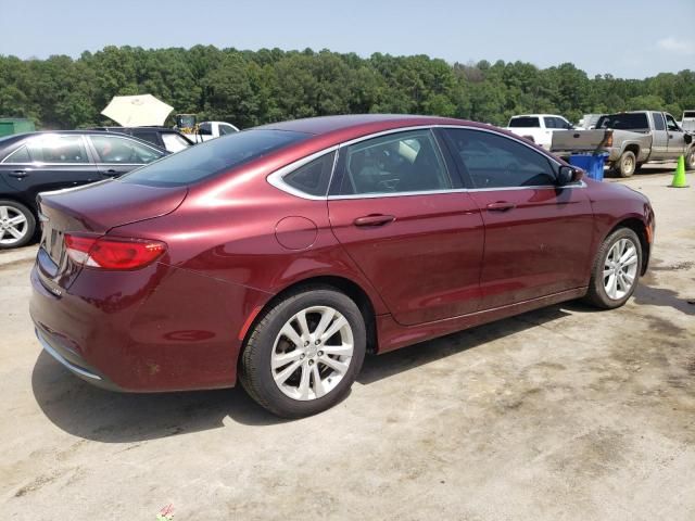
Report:
[[[606,153],[608,166],[620,177],[630,177],[645,163],[673,161],[681,155],[685,167],[695,169],[693,138],[666,112],[621,112],[601,116],[593,130],[554,132],[551,152],[560,157]]]

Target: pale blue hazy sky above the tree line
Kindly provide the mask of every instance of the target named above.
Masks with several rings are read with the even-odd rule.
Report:
[[[0,0],[0,54],[197,43],[572,62],[643,78],[695,69],[695,0]]]

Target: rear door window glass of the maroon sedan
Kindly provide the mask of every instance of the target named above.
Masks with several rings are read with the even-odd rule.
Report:
[[[349,145],[344,154],[343,195],[428,192],[452,186],[430,130],[368,139]]]

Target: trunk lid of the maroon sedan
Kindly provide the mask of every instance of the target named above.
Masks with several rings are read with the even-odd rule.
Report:
[[[151,187],[108,180],[86,187],[43,192],[37,198],[41,241],[39,277],[60,295],[79,272],[65,254],[64,234],[104,234],[116,226],[152,219],[174,212],[186,199],[186,187]]]

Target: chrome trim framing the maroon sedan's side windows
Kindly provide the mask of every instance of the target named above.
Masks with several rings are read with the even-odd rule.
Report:
[[[372,139],[372,138],[379,138],[381,136],[388,136],[391,134],[399,134],[399,132],[407,132],[407,131],[413,131],[413,130],[432,130],[434,128],[453,128],[453,129],[464,129],[464,130],[477,130],[477,131],[481,131],[481,132],[489,132],[489,134],[493,134],[495,136],[501,136],[503,138],[507,138],[511,141],[516,141],[517,143],[520,143],[525,147],[527,147],[528,149],[531,149],[533,152],[535,152],[536,154],[540,154],[542,156],[544,156],[546,160],[548,160],[549,163],[554,163],[557,166],[563,166],[563,163],[560,163],[558,160],[556,160],[554,156],[551,155],[546,155],[543,154],[542,152],[540,152],[535,147],[533,147],[531,143],[529,143],[528,141],[526,141],[523,138],[520,137],[516,137],[516,136],[508,136],[506,134],[500,132],[495,129],[492,128],[481,128],[481,127],[472,127],[470,125],[445,125],[445,124],[437,124],[437,125],[414,125],[414,126],[409,126],[409,127],[399,127],[399,128],[390,128],[388,130],[381,130],[379,132],[374,132],[374,134],[369,134],[367,136],[361,136],[358,138],[353,138],[351,140],[348,141],[343,141],[341,143],[338,144],[332,144],[326,149],[321,149],[318,152],[314,152],[311,155],[307,155],[306,157],[302,157],[301,160],[296,160],[292,163],[290,163],[289,165],[286,165],[277,170],[275,170],[274,173],[271,173],[270,175],[268,175],[266,177],[266,180],[273,185],[275,188],[282,190],[283,192],[290,193],[294,196],[301,198],[301,199],[307,199],[311,201],[337,201],[337,200],[341,200],[341,199],[376,199],[376,198],[400,198],[400,196],[412,196],[412,195],[437,195],[437,194],[442,194],[442,193],[456,193],[456,192],[490,192],[490,191],[501,191],[501,190],[540,190],[540,189],[558,189],[558,188],[586,188],[586,183],[584,181],[580,181],[579,183],[572,183],[572,185],[566,185],[564,187],[558,187],[557,185],[540,185],[540,186],[533,186],[533,187],[495,187],[495,188],[452,188],[452,189],[446,189],[446,190],[427,190],[427,191],[417,191],[417,192],[388,192],[388,193],[358,193],[358,194],[350,194],[350,195],[311,195],[308,193],[302,192],[301,190],[298,190],[293,187],[290,187],[289,185],[287,185],[282,178],[290,174],[291,171],[293,171],[296,168],[300,168],[302,166],[304,166],[307,163],[311,163],[312,161],[323,156],[324,154],[328,154],[331,153],[333,151],[338,151],[340,153],[340,149],[344,148],[344,147],[350,147],[351,144],[354,143],[359,143],[362,141],[366,141],[368,139]],[[437,140],[435,140],[437,142]],[[438,143],[439,145],[439,143]],[[441,153],[441,150],[440,150]],[[328,187],[330,188],[330,185],[332,183],[333,180],[333,176],[336,175],[336,165],[338,163],[338,155],[336,154],[336,157],[333,158],[333,167],[331,169],[331,174],[330,174],[330,180],[328,183]]]

